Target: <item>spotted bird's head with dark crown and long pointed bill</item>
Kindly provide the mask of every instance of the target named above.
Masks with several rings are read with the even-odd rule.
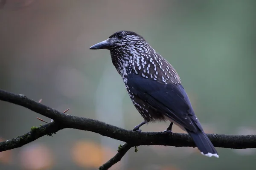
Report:
[[[98,50],[98,49],[108,49],[110,51],[114,50],[127,50],[131,51],[131,48],[134,47],[136,42],[141,41],[145,42],[143,37],[139,34],[132,32],[132,31],[118,31],[108,37],[107,40],[99,42],[89,49],[91,50]]]

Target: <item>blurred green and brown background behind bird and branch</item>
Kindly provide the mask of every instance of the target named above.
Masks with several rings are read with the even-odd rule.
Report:
[[[141,34],[179,73],[207,133],[256,134],[255,0],[6,0],[0,9],[0,88],[132,129],[143,121],[109,51],[88,48],[120,30]],[[0,140],[43,124],[0,102]],[[166,123],[143,131],[163,131]],[[174,132],[183,132],[174,127]],[[65,129],[0,153],[0,170],[96,170],[123,142]],[[255,169],[256,150],[140,146],[111,170]]]

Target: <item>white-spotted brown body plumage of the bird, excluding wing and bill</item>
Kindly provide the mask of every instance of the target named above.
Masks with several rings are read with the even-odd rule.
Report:
[[[181,84],[180,79],[177,79],[179,76],[172,65],[158,54],[143,37],[128,35],[125,31],[122,34],[125,34],[125,38],[122,39],[122,42],[117,42],[110,50],[113,65],[121,75],[123,82],[125,82],[134,106],[147,122],[154,121],[157,118],[152,115],[145,116],[143,112],[148,110],[146,110],[145,106],[138,105],[134,95],[129,91],[129,88],[132,87],[128,85],[127,71],[129,71],[129,74],[133,73],[145,79],[152,79],[164,84]]]

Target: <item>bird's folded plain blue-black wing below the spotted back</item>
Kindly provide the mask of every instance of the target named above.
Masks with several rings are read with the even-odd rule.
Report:
[[[146,79],[133,72],[128,73],[127,79],[131,92],[151,107],[189,131],[202,130],[182,85],[165,84],[153,79]]]

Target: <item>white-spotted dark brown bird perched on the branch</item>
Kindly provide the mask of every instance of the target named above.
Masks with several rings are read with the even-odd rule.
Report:
[[[139,34],[117,31],[107,40],[89,49],[107,49],[137,111],[144,121],[134,127],[156,121],[170,121],[165,132],[172,133],[173,123],[186,131],[204,156],[219,157],[204,133],[177,71]]]

